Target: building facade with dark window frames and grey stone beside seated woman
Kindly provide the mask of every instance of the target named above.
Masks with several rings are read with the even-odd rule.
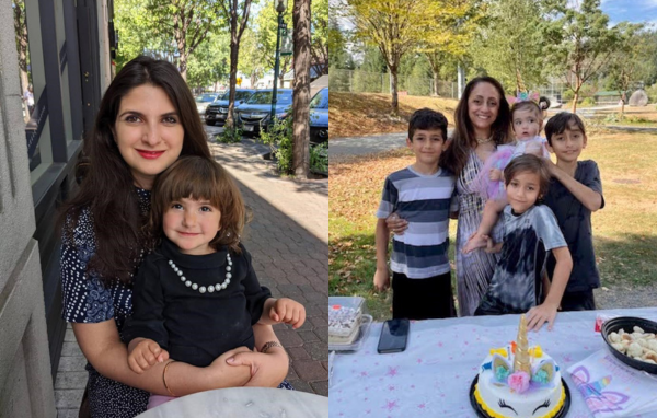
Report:
[[[112,0],[24,3],[28,123],[12,0],[0,0],[0,418],[57,416],[53,383],[66,330],[58,206],[74,193],[84,129],[111,82]]]

